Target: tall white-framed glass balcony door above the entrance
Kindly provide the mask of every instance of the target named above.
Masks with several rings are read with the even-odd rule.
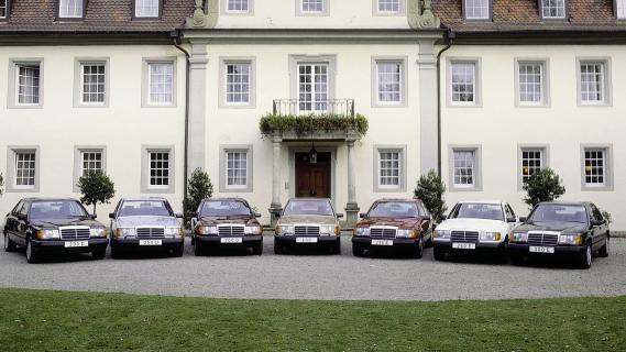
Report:
[[[298,64],[298,110],[300,113],[328,111],[328,64]]]

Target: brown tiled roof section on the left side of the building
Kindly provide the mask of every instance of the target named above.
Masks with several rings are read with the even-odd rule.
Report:
[[[57,20],[58,0],[12,0],[2,32],[155,33],[173,31],[194,12],[193,0],[163,0],[160,19],[133,19],[134,0],[89,0],[83,20]]]

